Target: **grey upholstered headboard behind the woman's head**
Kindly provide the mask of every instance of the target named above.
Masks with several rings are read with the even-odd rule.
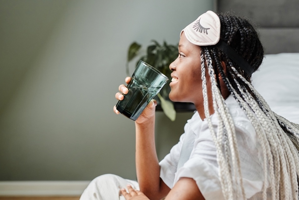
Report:
[[[249,17],[258,24],[266,54],[299,52],[298,0],[217,0],[217,11]]]

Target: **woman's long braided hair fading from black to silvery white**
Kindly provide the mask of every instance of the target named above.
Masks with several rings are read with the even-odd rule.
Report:
[[[231,13],[219,13],[220,39],[231,46],[257,71],[264,58],[259,35],[248,19]],[[221,95],[218,76],[252,123],[262,147],[265,179],[269,176],[273,199],[298,199],[299,125],[274,113],[251,85],[246,74],[217,46],[201,46],[202,92],[204,110],[217,150],[219,177],[225,199],[245,199],[239,151],[233,119]],[[223,70],[221,62],[226,65]],[[215,133],[207,99],[206,73],[211,79],[213,108],[218,117]],[[266,180],[262,198],[267,199]],[[237,188],[239,187],[239,188]]]

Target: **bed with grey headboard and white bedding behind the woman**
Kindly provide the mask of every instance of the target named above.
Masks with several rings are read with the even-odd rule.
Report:
[[[218,0],[216,9],[258,25],[266,55],[253,85],[275,113],[299,124],[299,1]]]

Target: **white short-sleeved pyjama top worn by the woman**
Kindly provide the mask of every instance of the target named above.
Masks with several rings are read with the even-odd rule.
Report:
[[[256,132],[247,115],[230,95],[225,103],[235,124],[237,143],[240,156],[241,173],[247,199],[259,199],[264,182],[262,148],[257,140]],[[216,114],[210,116],[217,133],[218,119]],[[201,120],[198,112],[187,120],[185,133],[181,135],[178,144],[172,147],[170,153],[160,162],[160,177],[172,188],[181,177],[192,178],[206,200],[224,199],[218,175],[216,147],[214,145],[207,119]],[[193,149],[189,160],[177,169],[182,144],[187,133],[190,133]],[[266,182],[268,182],[266,180]],[[266,186],[268,187],[268,183]],[[255,195],[256,194],[256,195]]]

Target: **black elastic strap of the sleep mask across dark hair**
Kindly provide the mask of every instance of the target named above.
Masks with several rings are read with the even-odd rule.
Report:
[[[220,50],[223,51],[230,59],[232,59],[239,67],[241,67],[246,74],[251,76],[254,72],[254,69],[251,65],[249,65],[248,62],[244,60],[233,48],[231,48],[228,44],[223,42],[222,40],[219,40],[219,42],[215,45]]]

